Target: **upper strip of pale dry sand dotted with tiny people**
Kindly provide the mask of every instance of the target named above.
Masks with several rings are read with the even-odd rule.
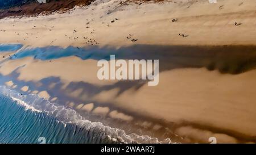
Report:
[[[87,44],[83,37],[89,37],[97,40],[100,46],[121,47],[134,44],[126,38],[133,34],[132,37],[138,39],[136,44],[255,45],[254,0],[175,2],[127,6],[120,5],[119,1],[105,0],[77,7],[70,11],[71,14],[1,19],[1,30],[6,31],[0,31],[0,35],[5,36],[0,42],[36,47],[84,47]],[[178,21],[173,23],[172,19]],[[112,20],[115,22],[111,23]],[[235,26],[235,22],[242,25]],[[77,32],[73,33],[73,30]],[[189,36],[184,38],[179,33]]]

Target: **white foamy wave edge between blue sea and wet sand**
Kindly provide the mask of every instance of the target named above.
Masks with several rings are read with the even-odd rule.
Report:
[[[20,106],[25,107],[26,110],[34,112],[44,112],[47,115],[54,116],[59,122],[64,123],[66,126],[68,123],[74,123],[84,127],[86,129],[94,129],[94,131],[102,133],[107,139],[117,141],[118,143],[171,143],[170,139],[159,141],[155,137],[147,135],[139,136],[135,133],[127,135],[125,131],[118,128],[111,128],[100,122],[90,122],[82,118],[77,114],[75,110],[60,106],[56,103],[51,103],[49,100],[40,98],[38,95],[20,95],[19,93],[7,89],[6,86],[0,86],[0,93],[13,99]]]

